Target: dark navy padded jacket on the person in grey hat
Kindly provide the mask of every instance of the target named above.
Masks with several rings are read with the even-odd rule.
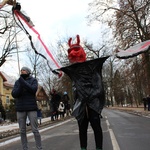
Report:
[[[12,90],[12,96],[16,100],[16,111],[34,111],[37,110],[36,91],[38,82],[32,76],[24,79],[20,78],[15,82]]]

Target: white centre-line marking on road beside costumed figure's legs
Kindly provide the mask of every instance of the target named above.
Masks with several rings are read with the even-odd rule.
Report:
[[[111,142],[112,142],[112,146],[113,146],[113,150],[120,150],[120,147],[118,145],[118,142],[116,140],[116,137],[114,135],[114,132],[112,129],[110,129],[110,124],[108,122],[108,120],[106,120],[106,124],[108,126],[108,131],[109,131],[109,134],[110,134],[110,138],[111,138]]]

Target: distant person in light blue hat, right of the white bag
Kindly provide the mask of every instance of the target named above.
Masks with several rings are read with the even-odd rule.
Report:
[[[70,110],[70,98],[68,96],[68,93],[65,91],[63,96],[62,96],[62,101],[65,105],[65,109],[64,109],[64,113],[66,114],[66,116],[69,116],[69,110]]]

